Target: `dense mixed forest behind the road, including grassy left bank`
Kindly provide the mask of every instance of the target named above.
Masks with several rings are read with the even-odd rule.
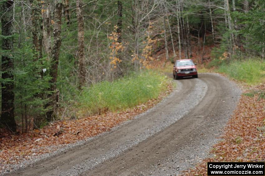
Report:
[[[214,67],[253,59],[265,69],[263,0],[1,0],[0,6],[0,126],[13,133],[157,97],[158,60],[191,58]]]

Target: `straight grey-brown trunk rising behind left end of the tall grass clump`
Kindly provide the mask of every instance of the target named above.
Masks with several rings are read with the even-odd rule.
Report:
[[[79,61],[79,89],[84,86],[86,82],[85,57],[84,57],[84,16],[83,16],[83,2],[76,0],[76,14],[78,21],[78,61]]]

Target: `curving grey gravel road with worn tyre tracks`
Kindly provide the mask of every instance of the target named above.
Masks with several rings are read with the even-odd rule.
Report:
[[[177,175],[208,155],[241,91],[218,74],[177,88],[134,120],[12,175]]]

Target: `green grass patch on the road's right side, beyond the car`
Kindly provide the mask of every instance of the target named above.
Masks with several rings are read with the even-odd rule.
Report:
[[[235,60],[229,64],[222,63],[217,71],[251,85],[263,82],[264,76],[262,75],[264,71],[261,69],[262,65],[264,63],[259,59]]]

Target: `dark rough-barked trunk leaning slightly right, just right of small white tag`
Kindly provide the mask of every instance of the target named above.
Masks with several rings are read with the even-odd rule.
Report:
[[[62,7],[63,4],[60,0],[55,1],[55,11],[54,11],[54,29],[53,29],[53,46],[51,50],[51,68],[50,68],[50,76],[51,76],[51,87],[50,91],[51,95],[48,97],[50,100],[46,105],[46,108],[49,110],[46,112],[46,119],[51,121],[56,117],[56,107],[58,107],[58,91],[56,90],[56,80],[57,80],[57,70],[59,63],[59,54],[60,54],[60,46],[62,42],[61,38],[61,25],[62,25]]]

